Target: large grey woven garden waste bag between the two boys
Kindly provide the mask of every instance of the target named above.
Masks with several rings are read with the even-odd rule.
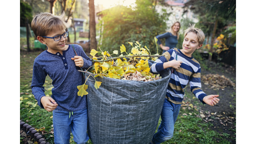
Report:
[[[162,111],[170,69],[160,76],[161,79],[149,82],[96,77],[96,81],[102,82],[98,89],[90,76],[86,84],[91,142],[149,144]]]

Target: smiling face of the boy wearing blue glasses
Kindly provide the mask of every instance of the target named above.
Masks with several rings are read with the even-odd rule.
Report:
[[[46,35],[47,37],[55,37],[57,35],[62,35],[63,33],[65,33],[65,29],[60,30],[60,29],[53,29],[53,31],[51,31],[48,35]],[[54,39],[52,38],[43,38],[43,44],[47,45],[48,47],[48,52],[56,54],[57,52],[62,54],[63,50],[67,50],[68,45],[65,45],[67,42],[68,38],[67,37],[63,37],[61,36],[61,39],[58,41],[54,41]]]

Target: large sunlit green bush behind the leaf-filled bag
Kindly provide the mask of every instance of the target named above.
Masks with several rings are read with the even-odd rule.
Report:
[[[137,0],[136,7],[116,6],[101,12],[102,26],[100,48],[102,51],[114,51],[120,49],[122,44],[127,51],[132,46],[128,43],[138,41],[142,47],[147,46],[151,54],[157,53],[154,37],[166,32],[166,11],[159,14],[155,10],[156,3],[152,0]],[[158,53],[161,51],[158,47]],[[119,56],[120,52],[116,55]]]

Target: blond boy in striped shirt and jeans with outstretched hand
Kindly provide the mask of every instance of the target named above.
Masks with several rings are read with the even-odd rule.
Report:
[[[185,30],[185,37],[182,49],[170,49],[157,59],[150,67],[151,73],[158,73],[166,68],[174,68],[171,75],[163,109],[161,112],[161,124],[157,133],[154,134],[150,144],[160,144],[172,138],[174,124],[178,117],[180,106],[184,98],[184,89],[189,82],[191,92],[203,104],[211,106],[219,102],[219,95],[206,95],[201,89],[201,67],[197,60],[192,57],[192,53],[199,49],[204,42],[205,36],[201,29],[195,28],[195,24],[190,25]],[[175,60],[177,51],[177,60]]]

